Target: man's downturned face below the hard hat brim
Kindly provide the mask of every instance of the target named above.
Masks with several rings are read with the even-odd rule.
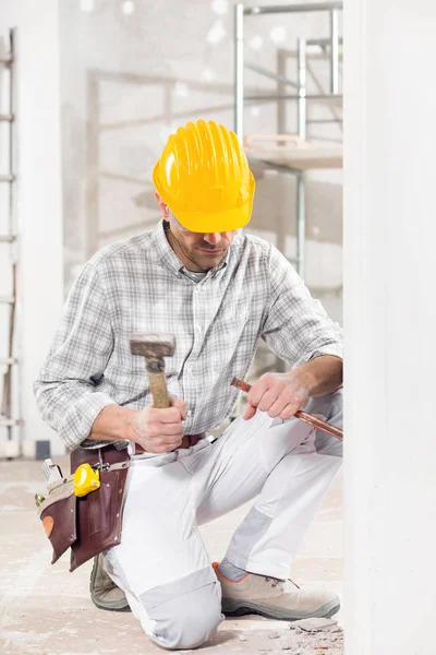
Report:
[[[185,229],[169,212],[168,240],[175,254],[190,271],[208,271],[218,266],[227,255],[237,231],[192,233]]]

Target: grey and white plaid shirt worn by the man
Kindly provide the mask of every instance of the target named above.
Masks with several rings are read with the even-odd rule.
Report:
[[[195,283],[160,223],[97,252],[68,296],[34,385],[44,420],[68,449],[108,443],[86,441],[107,405],[141,409],[152,402],[145,361],[130,353],[134,332],[175,335],[166,373],[169,393],[185,401],[186,434],[230,416],[239,393],[230,381],[245,377],[259,337],[289,368],[342,356],[338,324],[269,242],[237,235],[226,260]]]

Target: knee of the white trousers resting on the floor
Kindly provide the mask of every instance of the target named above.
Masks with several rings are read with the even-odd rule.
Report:
[[[211,582],[147,609],[155,621],[153,641],[164,648],[185,650],[211,639],[223,619],[218,586]]]

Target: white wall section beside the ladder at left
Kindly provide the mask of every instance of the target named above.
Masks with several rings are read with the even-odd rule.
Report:
[[[1,32],[9,27],[17,28],[21,416],[25,440],[51,439],[57,453],[63,450],[60,440],[40,420],[32,390],[63,301],[57,0],[2,1]]]

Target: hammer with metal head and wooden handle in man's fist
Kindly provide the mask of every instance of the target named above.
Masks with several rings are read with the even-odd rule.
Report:
[[[170,406],[165,377],[164,357],[172,357],[175,350],[175,338],[173,334],[161,333],[137,333],[130,340],[130,352],[132,355],[145,357],[148,380],[153,395],[153,405],[158,408]]]

